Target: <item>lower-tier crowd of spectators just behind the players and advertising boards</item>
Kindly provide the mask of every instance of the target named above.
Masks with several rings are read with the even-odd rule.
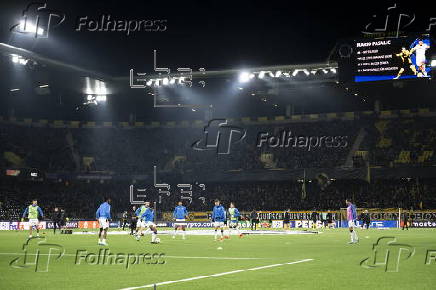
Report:
[[[303,195],[302,183],[289,182],[237,182],[212,183],[206,189],[193,190],[192,202],[183,200],[189,211],[210,211],[213,201],[220,199],[224,206],[234,202],[241,211],[255,210],[339,210],[346,207],[345,199],[351,198],[359,208],[436,208],[436,179],[392,179],[368,183],[362,180],[336,180],[321,189],[316,180],[306,181]],[[112,199],[114,217],[131,209],[129,184],[106,181],[20,181],[2,180],[0,186],[0,219],[17,219],[25,206],[37,198],[40,206],[52,212],[54,207],[65,209],[66,217],[94,219],[95,210],[104,197]],[[162,194],[152,190],[147,199],[156,202],[158,212],[174,209],[181,194]]]

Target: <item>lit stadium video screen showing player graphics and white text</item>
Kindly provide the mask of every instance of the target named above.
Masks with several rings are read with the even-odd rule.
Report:
[[[354,81],[431,78],[431,48],[429,35],[356,40]]]

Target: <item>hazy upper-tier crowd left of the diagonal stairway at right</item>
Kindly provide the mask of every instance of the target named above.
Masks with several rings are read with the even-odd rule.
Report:
[[[0,152],[12,152],[18,164],[2,158],[3,166],[34,167],[46,172],[108,171],[138,174],[160,169],[178,172],[210,172],[250,170],[268,167],[303,168],[337,167],[343,165],[359,125],[354,122],[295,123],[288,125],[248,125],[246,138],[231,144],[231,154],[217,154],[215,148],[198,151],[195,141],[204,138],[203,128],[34,128],[0,125]],[[211,129],[212,130],[212,129]],[[296,147],[259,144],[261,133],[280,136],[289,132],[293,138],[303,137]],[[226,150],[230,132],[221,132],[220,148]],[[215,132],[209,132],[208,144],[215,142]],[[319,140],[331,136],[346,136],[346,146],[327,147]],[[308,141],[312,138],[309,149]],[[69,141],[71,139],[71,141]],[[277,138],[276,138],[277,139]],[[319,145],[313,146],[314,141]],[[282,141],[281,141],[282,142]],[[285,143],[288,142],[285,140]],[[301,143],[302,142],[302,143]],[[282,142],[283,143],[283,142]],[[321,144],[323,143],[323,144]],[[204,143],[202,143],[204,146]],[[262,155],[264,155],[262,157]],[[78,157],[80,164],[75,162]],[[85,166],[84,157],[93,162]],[[177,158],[179,157],[179,158]],[[265,161],[268,159],[269,162]]]

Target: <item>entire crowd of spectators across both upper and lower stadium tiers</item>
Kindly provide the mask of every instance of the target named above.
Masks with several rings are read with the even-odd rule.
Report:
[[[193,149],[193,144],[204,137],[201,127],[67,129],[3,123],[0,125],[0,168],[3,172],[5,169],[36,168],[46,173],[100,171],[132,176],[150,174],[153,166],[174,175],[195,176],[264,168],[334,168],[345,164],[356,137],[363,131],[364,139],[354,149],[367,151],[371,165],[434,165],[435,124],[436,118],[409,118],[246,125],[241,126],[247,132],[246,138],[232,143],[230,154],[217,154],[217,148],[204,147],[204,140],[199,144],[203,149],[212,150]],[[208,130],[208,143],[212,144],[217,128]],[[331,148],[324,142],[323,146],[310,150],[307,146],[274,147],[265,143],[257,146],[261,133],[277,137],[283,131],[293,138],[303,136],[318,140],[321,137],[346,136],[347,145]],[[225,131],[221,133],[225,135]],[[226,145],[228,141],[231,140],[221,143]],[[284,142],[287,142],[286,139]],[[399,156],[403,151],[410,155],[401,160]],[[427,152],[425,158],[422,157],[423,152]],[[85,166],[86,157],[92,162]],[[35,182],[18,181],[14,177],[1,181],[0,219],[7,216],[16,218],[33,197],[41,199],[44,208],[67,208],[67,216],[73,218],[93,217],[103,196],[113,198],[117,212],[129,207],[130,181],[63,179]],[[235,201],[242,210],[338,209],[344,206],[344,198],[350,196],[361,207],[436,207],[434,180],[397,179],[371,183],[337,180],[325,189],[321,189],[314,180],[307,183],[305,198],[301,196],[301,187],[298,181],[238,183],[223,180],[208,184],[207,190],[198,193],[190,207],[191,210],[210,210],[212,200],[219,198],[227,203]],[[175,194],[165,196],[158,204],[162,209],[169,210],[179,198]],[[158,200],[157,196],[153,199]]]

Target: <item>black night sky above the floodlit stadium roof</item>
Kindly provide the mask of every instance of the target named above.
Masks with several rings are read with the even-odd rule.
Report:
[[[324,61],[338,39],[356,37],[373,14],[386,14],[390,1],[47,1],[65,13],[48,39],[23,38],[9,27],[29,1],[1,4],[0,41],[44,56],[126,74],[158,63],[207,70]],[[399,7],[401,7],[399,5]],[[402,12],[415,12],[408,5]],[[77,32],[78,18],[111,15],[119,20],[164,19],[164,32]],[[422,16],[419,20],[427,19]],[[417,22],[416,22],[417,23]],[[418,28],[419,29],[419,28]],[[422,30],[422,29],[421,29]]]

